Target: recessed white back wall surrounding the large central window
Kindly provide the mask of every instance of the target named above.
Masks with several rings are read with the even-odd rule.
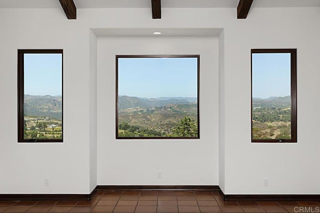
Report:
[[[217,53],[213,37],[98,38],[98,185],[218,185]],[[124,54],[200,54],[199,140],[115,140],[115,55]]]

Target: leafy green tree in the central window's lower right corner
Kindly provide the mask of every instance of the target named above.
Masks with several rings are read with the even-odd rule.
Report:
[[[198,127],[194,119],[184,116],[172,129],[173,137],[197,137]]]

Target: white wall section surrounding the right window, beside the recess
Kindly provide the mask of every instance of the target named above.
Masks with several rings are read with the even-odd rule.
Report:
[[[226,194],[320,194],[318,21],[319,8],[254,8],[224,30]],[[297,48],[297,143],[250,143],[250,48]]]

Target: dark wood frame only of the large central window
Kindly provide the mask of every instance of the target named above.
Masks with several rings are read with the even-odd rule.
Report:
[[[118,137],[118,58],[197,58],[197,137]],[[200,55],[115,55],[115,139],[200,139]]]

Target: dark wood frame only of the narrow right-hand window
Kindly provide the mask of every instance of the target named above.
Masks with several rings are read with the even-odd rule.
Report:
[[[290,97],[291,97],[291,139],[253,139],[252,137],[252,53],[290,53]],[[296,49],[251,49],[251,142],[252,143],[296,143]]]

